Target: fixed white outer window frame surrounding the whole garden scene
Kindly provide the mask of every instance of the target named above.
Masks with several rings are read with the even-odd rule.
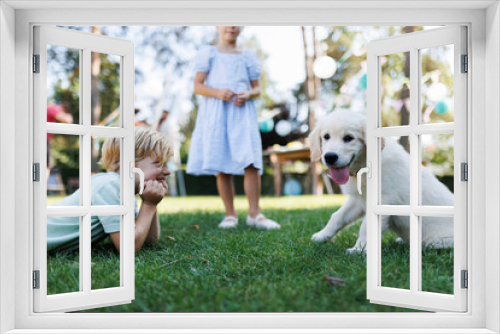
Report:
[[[146,10],[120,9],[148,8]],[[99,9],[97,9],[99,6]],[[428,7],[426,7],[428,6]],[[453,6],[461,6],[455,9]],[[43,10],[67,7],[64,10]],[[69,8],[68,8],[69,7]],[[163,7],[163,8],[158,8]],[[202,8],[204,7],[204,8]],[[224,9],[221,9],[221,8]],[[292,9],[290,9],[292,7]],[[348,9],[346,9],[346,7]],[[451,9],[450,9],[451,7]],[[83,8],[83,9],[82,9]],[[103,10],[103,8],[113,10]],[[196,9],[193,9],[196,8]],[[366,9],[370,8],[370,9]],[[398,9],[395,9],[398,8]],[[411,8],[411,10],[409,10]],[[468,84],[470,185],[469,228],[470,254],[469,311],[465,314],[33,314],[31,269],[27,261],[32,245],[33,213],[26,210],[32,192],[30,181],[33,125],[29,70],[32,45],[31,31],[35,24],[67,25],[435,25],[465,24],[469,27]],[[422,333],[492,333],[500,331],[500,10],[497,1],[485,2],[311,2],[268,1],[224,2],[18,2],[0,3],[0,330],[13,333],[71,332],[71,328],[101,333],[106,329],[130,329],[128,333],[144,333],[146,328],[165,328],[162,332],[236,332],[235,328],[252,328],[255,332],[346,332],[409,333],[419,328]],[[488,68],[486,70],[486,64]],[[12,87],[12,82],[15,85]],[[15,112],[13,112],[13,110]],[[15,127],[11,118],[15,114]],[[486,121],[487,119],[487,121]],[[28,120],[28,121],[27,121]],[[488,134],[488,140],[486,135]],[[15,144],[12,145],[12,137]],[[486,154],[486,151],[488,154]],[[15,161],[8,164],[5,161]],[[489,172],[488,182],[486,173]],[[12,177],[15,175],[15,177]],[[15,181],[15,183],[14,183]],[[15,196],[12,198],[12,190]],[[488,196],[486,196],[488,194]],[[14,209],[12,209],[14,208]],[[488,217],[488,220],[486,219]],[[12,224],[15,222],[15,224]],[[15,236],[13,238],[12,236]],[[14,289],[12,287],[15,287]],[[488,291],[488,293],[486,293]],[[335,302],[332,297],[332,302]],[[12,305],[15,305],[12,308]],[[358,330],[354,330],[357,328]],[[384,328],[381,330],[381,328]],[[93,330],[90,330],[93,329]],[[101,329],[101,330],[99,330]],[[199,330],[195,330],[199,329]],[[267,331],[266,331],[267,329]],[[447,330],[448,329],[448,330]],[[461,330],[460,330],[461,329]],[[40,331],[41,332],[41,331]],[[76,332],[76,331],[73,331]],[[108,331],[109,333],[110,331]],[[243,332],[243,330],[241,331]],[[248,332],[248,330],[246,331]],[[291,330],[290,330],[291,332]]]

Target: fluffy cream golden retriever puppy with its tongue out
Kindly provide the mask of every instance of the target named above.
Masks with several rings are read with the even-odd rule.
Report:
[[[330,240],[340,230],[363,218],[358,239],[348,253],[366,250],[366,182],[363,178],[363,194],[357,191],[357,172],[366,166],[366,117],[347,110],[335,111],[317,122],[309,135],[311,160],[328,168],[333,182],[348,195],[344,205],[332,214],[326,226],[312,236],[315,242]],[[383,205],[410,204],[410,156],[395,140],[382,138],[381,187]],[[453,194],[422,166],[423,205],[453,206]],[[391,229],[398,240],[410,242],[408,216],[382,216],[382,235]],[[434,248],[453,247],[453,218],[423,217],[422,246]]]

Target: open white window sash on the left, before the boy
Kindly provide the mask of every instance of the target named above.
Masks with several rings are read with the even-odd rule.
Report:
[[[41,172],[33,184],[34,270],[39,271],[39,288],[34,290],[35,312],[76,311],[130,303],[135,296],[134,264],[134,45],[127,40],[100,36],[52,26],[34,27],[34,54],[39,55],[39,73],[34,84],[34,162],[47,164],[47,133],[79,136],[80,205],[47,207],[47,176]],[[79,50],[80,91],[79,124],[47,123],[47,46],[58,45]],[[91,53],[112,54],[120,58],[120,119],[116,127],[91,123]],[[120,205],[91,205],[91,138],[120,138]],[[131,177],[132,176],[132,177]],[[120,216],[120,285],[92,289],[91,216]],[[75,292],[47,295],[47,224],[48,217],[80,218],[79,289]]]

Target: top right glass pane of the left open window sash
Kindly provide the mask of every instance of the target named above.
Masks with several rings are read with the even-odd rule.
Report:
[[[120,126],[120,56],[91,53],[92,125]]]

